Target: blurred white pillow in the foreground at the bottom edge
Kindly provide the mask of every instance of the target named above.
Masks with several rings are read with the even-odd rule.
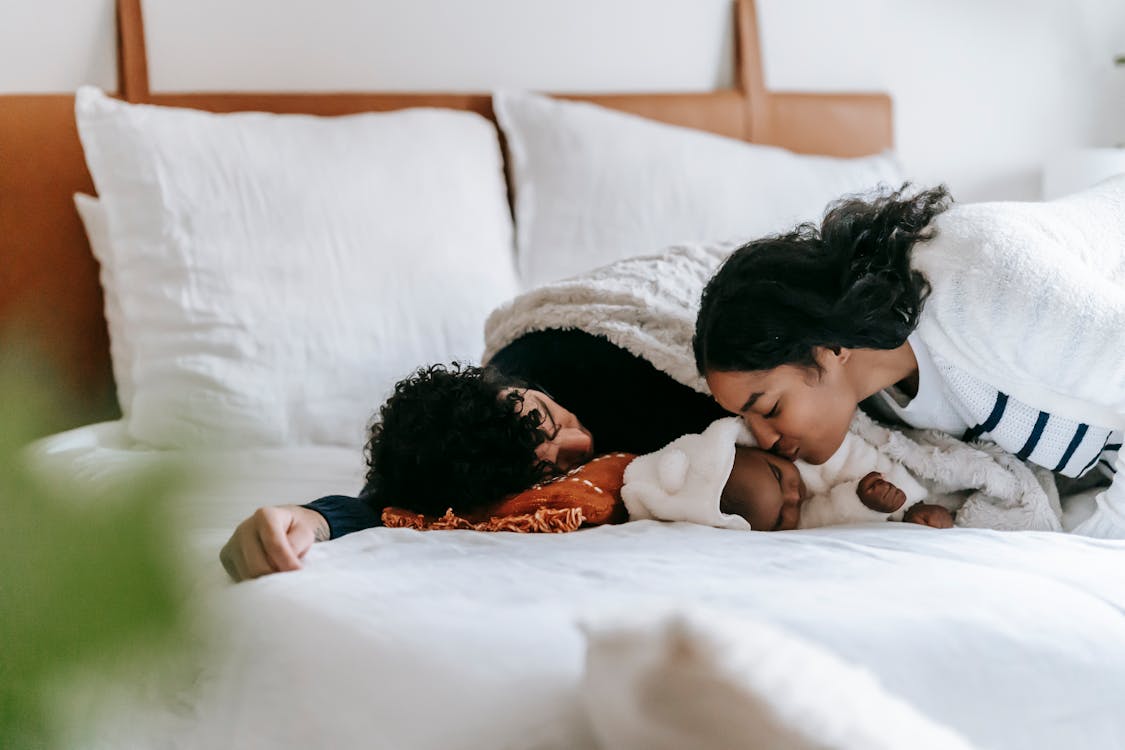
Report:
[[[752,617],[632,612],[587,623],[584,698],[614,750],[969,750],[871,672]],[[614,621],[616,620],[616,621]]]

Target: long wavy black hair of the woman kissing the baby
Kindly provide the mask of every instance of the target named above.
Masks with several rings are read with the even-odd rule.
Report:
[[[918,325],[929,283],[910,268],[916,242],[952,202],[945,186],[903,184],[842,199],[820,226],[755,240],[703,290],[693,347],[700,373],[819,370],[816,349],[896,349]]]

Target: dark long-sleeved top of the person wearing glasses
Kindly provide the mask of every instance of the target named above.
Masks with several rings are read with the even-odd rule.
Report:
[[[647,360],[582,331],[529,333],[488,364],[573,412],[594,436],[595,453],[651,453],[729,416],[709,396]],[[363,501],[362,491],[358,498],[330,495],[305,507],[324,516],[332,539],[379,524],[379,512]]]

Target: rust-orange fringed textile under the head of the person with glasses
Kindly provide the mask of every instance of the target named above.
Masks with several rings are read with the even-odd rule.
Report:
[[[440,518],[404,508],[382,512],[382,524],[398,528],[516,531],[561,533],[582,526],[624,523],[629,519],[621,499],[626,467],[631,453],[608,453],[573,469],[569,473],[536,485],[471,515],[459,516],[452,508]]]

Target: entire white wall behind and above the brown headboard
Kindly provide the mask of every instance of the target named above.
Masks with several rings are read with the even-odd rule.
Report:
[[[147,0],[158,90],[705,90],[729,0]],[[908,173],[1038,196],[1061,150],[1125,141],[1122,0],[758,0],[766,78],[883,90]],[[0,0],[0,91],[116,80],[111,0]]]

